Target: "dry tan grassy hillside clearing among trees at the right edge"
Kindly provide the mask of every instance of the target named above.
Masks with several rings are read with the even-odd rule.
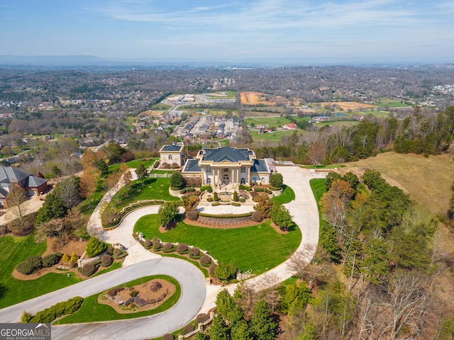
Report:
[[[384,179],[410,194],[421,207],[426,218],[448,209],[454,181],[453,159],[443,156],[425,158],[416,154],[386,152],[377,157],[345,164],[345,171],[362,174],[365,169],[375,169]]]

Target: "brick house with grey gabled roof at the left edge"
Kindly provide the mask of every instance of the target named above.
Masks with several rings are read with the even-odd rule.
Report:
[[[12,166],[0,166],[0,204],[7,208],[6,196],[11,186],[20,186],[27,196],[40,196],[48,190],[48,180]]]

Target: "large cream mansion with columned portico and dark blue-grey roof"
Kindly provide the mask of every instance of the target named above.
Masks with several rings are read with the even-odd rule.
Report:
[[[204,185],[250,185],[270,183],[270,167],[265,159],[257,159],[250,149],[221,147],[201,149],[195,159],[187,159],[183,176],[201,177]]]

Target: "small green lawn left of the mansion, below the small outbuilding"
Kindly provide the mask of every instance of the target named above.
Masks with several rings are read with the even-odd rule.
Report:
[[[116,204],[117,196],[112,198],[117,210],[135,203],[138,200],[180,200],[169,193],[170,177],[148,178],[145,181],[133,181],[130,188],[120,189],[120,204]],[[128,191],[128,197],[126,197]]]

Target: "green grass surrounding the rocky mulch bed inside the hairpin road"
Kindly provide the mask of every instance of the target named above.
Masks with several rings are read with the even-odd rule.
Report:
[[[124,319],[134,319],[136,317],[148,317],[165,310],[170,309],[175,305],[182,293],[182,288],[179,285],[178,281],[175,278],[166,275],[154,275],[154,276],[145,276],[143,278],[138,278],[137,280],[130,281],[121,285],[121,287],[131,287],[133,285],[140,285],[142,283],[148,282],[150,280],[155,280],[156,278],[162,278],[174,284],[177,288],[175,294],[173,294],[168,300],[162,303],[159,307],[154,310],[144,310],[141,312],[129,313],[129,314],[119,314],[109,305],[101,305],[98,303],[98,295],[90,295],[84,299],[82,307],[72,314],[64,317],[60,320],[57,320],[54,324],[77,324],[81,322],[100,322],[100,321],[111,321],[111,320],[124,320]],[[113,288],[113,287],[112,287]]]

